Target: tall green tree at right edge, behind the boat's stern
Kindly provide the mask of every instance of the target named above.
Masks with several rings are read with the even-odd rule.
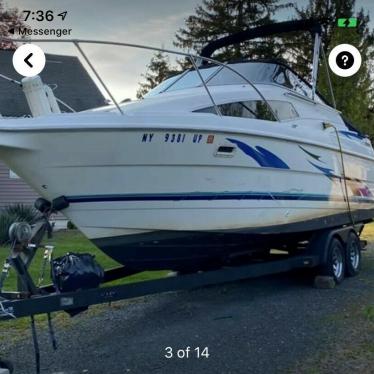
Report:
[[[354,9],[355,0],[310,0],[305,8],[296,7],[296,13],[303,19],[313,17],[322,20],[322,40],[326,57],[334,46],[342,43],[352,44],[360,51],[362,65],[355,75],[343,78],[336,76],[330,70],[330,77],[337,109],[341,110],[343,115],[361,131],[374,138],[374,71],[372,66],[374,31],[369,28],[369,14],[363,9],[356,13]],[[357,17],[358,27],[338,28],[337,19],[341,17]],[[310,45],[310,36],[300,34],[296,36],[296,42],[289,46],[291,63],[304,77],[308,77],[308,72],[311,70]],[[323,61],[319,67],[318,90],[326,98],[330,98],[326,66]]]

